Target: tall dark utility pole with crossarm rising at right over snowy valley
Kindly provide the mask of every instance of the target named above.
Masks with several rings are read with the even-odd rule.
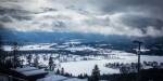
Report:
[[[134,43],[138,44],[138,51],[137,51],[137,55],[138,55],[138,78],[137,80],[140,81],[140,49],[141,49],[141,44],[142,42],[141,41],[137,41],[135,40]]]

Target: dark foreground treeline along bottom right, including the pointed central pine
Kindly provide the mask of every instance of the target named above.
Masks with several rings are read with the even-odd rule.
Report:
[[[163,80],[163,69],[161,68],[151,68],[151,69],[141,69],[140,70],[139,81],[162,81]],[[138,81],[137,72],[123,72],[123,73],[113,73],[113,75],[100,75],[100,69],[96,65],[92,69],[91,76],[79,75],[80,79],[88,79],[88,81]]]

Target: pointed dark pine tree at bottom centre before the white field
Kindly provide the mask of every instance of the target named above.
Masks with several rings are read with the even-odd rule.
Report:
[[[99,81],[100,80],[100,70],[98,65],[95,66],[91,73],[91,81]]]

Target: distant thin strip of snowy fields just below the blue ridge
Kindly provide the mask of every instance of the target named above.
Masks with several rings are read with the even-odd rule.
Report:
[[[59,50],[59,49],[64,49],[68,51],[85,51],[85,50],[90,50],[90,51],[97,51],[93,48],[90,46],[72,46],[70,48],[70,44],[67,43],[79,43],[79,42],[66,42],[61,45],[58,45],[57,43],[39,43],[39,44],[29,44],[29,45],[23,45],[20,46],[20,51],[30,51],[30,50]],[[52,45],[55,45],[55,48],[51,48]],[[3,45],[2,46],[4,51],[12,51],[13,46],[11,45]]]

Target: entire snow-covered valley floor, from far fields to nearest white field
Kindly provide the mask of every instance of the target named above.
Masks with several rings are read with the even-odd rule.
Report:
[[[74,42],[79,43],[79,42]],[[60,55],[59,54],[39,54],[39,65],[48,66],[49,57],[52,55],[54,57],[54,63],[58,65],[57,68],[61,69],[64,68],[65,72],[72,73],[73,76],[78,76],[80,73],[91,75],[91,70],[93,69],[95,65],[98,65],[100,69],[100,73],[120,73],[118,69],[108,68],[104,65],[108,63],[137,63],[137,55],[133,53],[127,53],[117,50],[103,50],[103,49],[95,49],[92,46],[87,45],[79,45],[79,46],[70,46],[72,42],[63,43],[62,45],[58,45],[57,43],[52,44],[34,44],[34,45],[24,45],[21,46],[20,50],[57,50],[63,49],[68,50],[71,52],[75,51],[98,51],[101,55],[88,55],[88,56],[80,56],[80,55]],[[55,48],[50,48],[55,45]],[[11,51],[12,46],[4,45],[5,51]],[[33,62],[36,55],[33,55]],[[43,57],[47,59],[45,60]],[[24,59],[24,65],[27,64],[26,55],[21,56]],[[163,63],[163,56],[149,56],[149,55],[141,55],[141,63],[146,62],[158,62]]]

